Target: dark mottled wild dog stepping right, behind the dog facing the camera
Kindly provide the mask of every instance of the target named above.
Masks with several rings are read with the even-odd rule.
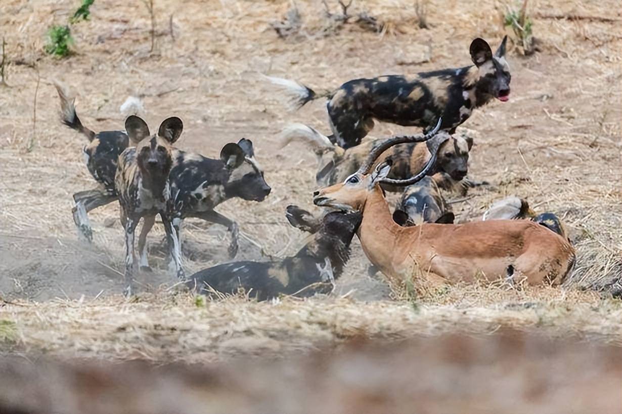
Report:
[[[238,224],[214,209],[234,197],[261,202],[270,194],[271,187],[254,157],[253,142],[242,138],[228,143],[220,151],[220,159],[172,150],[170,188],[175,202],[172,220],[179,238],[183,219],[195,217],[224,225],[231,232],[229,254],[238,252]],[[149,268],[147,261],[147,234],[156,215],[147,215],[138,240],[141,267]]]

